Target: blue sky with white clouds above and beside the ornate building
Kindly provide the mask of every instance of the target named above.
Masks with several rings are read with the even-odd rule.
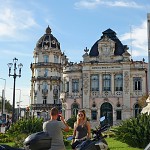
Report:
[[[111,28],[133,60],[147,61],[149,0],[0,0],[0,78],[6,79],[6,99],[12,103],[13,78],[7,64],[18,58],[22,77],[16,80],[16,101],[29,103],[30,64],[38,39],[49,25],[70,61],[82,61],[102,32]],[[0,95],[4,80],[0,79]]]

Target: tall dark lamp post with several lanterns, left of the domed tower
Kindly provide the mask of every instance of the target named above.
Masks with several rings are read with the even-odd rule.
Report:
[[[15,122],[15,86],[16,86],[16,77],[21,77],[21,68],[23,65],[20,63],[18,64],[18,69],[19,69],[19,75],[16,74],[17,70],[17,58],[13,59],[13,63],[8,63],[8,68],[9,68],[9,77],[12,76],[14,78],[14,86],[13,86],[13,110],[12,110],[12,123]],[[14,72],[11,74],[11,68],[14,65]]]

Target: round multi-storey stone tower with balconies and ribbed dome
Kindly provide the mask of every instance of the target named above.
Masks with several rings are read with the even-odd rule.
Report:
[[[46,33],[38,40],[34,49],[34,63],[31,64],[31,104],[34,112],[61,107],[62,71],[67,58],[61,52],[60,43],[48,26]]]

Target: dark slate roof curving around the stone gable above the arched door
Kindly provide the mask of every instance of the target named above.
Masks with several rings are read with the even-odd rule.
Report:
[[[124,45],[121,43],[121,41],[117,38],[116,36],[116,32],[114,32],[111,29],[107,29],[106,31],[102,32],[103,35],[101,36],[101,38],[99,40],[97,40],[95,42],[95,44],[92,46],[89,56],[98,56],[99,52],[98,52],[98,42],[105,36],[107,36],[108,38],[110,38],[111,40],[113,40],[116,44],[115,44],[115,51],[114,51],[114,55],[122,55],[125,52],[125,48]]]

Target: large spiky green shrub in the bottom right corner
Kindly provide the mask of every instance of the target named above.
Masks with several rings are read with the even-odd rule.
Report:
[[[132,147],[145,148],[150,141],[150,116],[141,114],[137,118],[127,119],[114,132],[117,140]]]

